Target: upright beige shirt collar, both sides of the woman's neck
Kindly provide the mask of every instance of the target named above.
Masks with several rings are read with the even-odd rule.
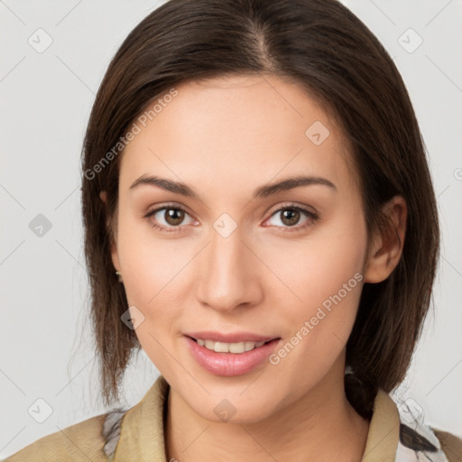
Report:
[[[167,462],[164,445],[164,411],[170,385],[160,375],[143,400],[126,412],[115,462]],[[393,461],[400,432],[400,418],[392,398],[379,390],[369,426],[362,462]]]

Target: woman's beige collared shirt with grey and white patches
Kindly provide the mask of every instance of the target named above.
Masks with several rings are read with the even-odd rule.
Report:
[[[52,433],[5,462],[167,462],[164,423],[169,390],[160,375],[134,407],[115,409]],[[362,462],[389,461],[461,462],[462,440],[417,420],[404,420],[393,399],[379,390]]]

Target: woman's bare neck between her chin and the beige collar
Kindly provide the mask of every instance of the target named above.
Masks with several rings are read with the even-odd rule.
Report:
[[[250,424],[203,419],[170,389],[167,460],[359,462],[369,422],[347,401],[343,368],[340,373],[334,374],[337,380],[325,377],[296,402]]]

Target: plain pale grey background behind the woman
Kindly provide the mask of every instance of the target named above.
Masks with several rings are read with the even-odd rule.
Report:
[[[109,60],[161,3],[0,0],[0,457],[106,411],[88,320],[79,156]],[[462,3],[344,3],[402,72],[439,200],[434,309],[393,398],[409,420],[462,436]],[[138,402],[157,375],[142,352],[122,404]]]

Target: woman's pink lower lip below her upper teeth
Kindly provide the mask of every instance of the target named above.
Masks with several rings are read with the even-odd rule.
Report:
[[[201,347],[190,337],[185,336],[185,338],[191,355],[199,365],[212,374],[225,375],[226,377],[244,375],[252,371],[272,354],[280,340],[280,338],[274,338],[262,347],[245,351],[245,353],[217,353],[206,347]]]

